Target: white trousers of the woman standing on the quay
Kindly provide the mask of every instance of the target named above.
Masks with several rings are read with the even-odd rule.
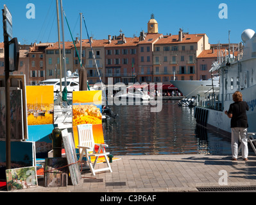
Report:
[[[242,158],[248,158],[247,128],[233,127],[231,128],[231,148],[232,158],[237,158],[238,140],[242,145]]]

